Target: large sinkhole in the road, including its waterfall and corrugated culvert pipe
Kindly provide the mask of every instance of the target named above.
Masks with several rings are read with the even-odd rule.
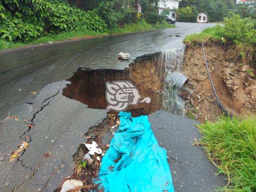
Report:
[[[158,110],[184,115],[185,101],[192,94],[193,87],[184,75],[176,72],[182,66],[183,56],[183,49],[173,49],[137,57],[124,70],[79,67],[67,79],[71,84],[64,88],[63,95],[89,108],[106,109],[105,82],[129,80],[140,90],[142,99],[151,99],[149,104],[142,102],[129,106],[126,111],[133,116]]]

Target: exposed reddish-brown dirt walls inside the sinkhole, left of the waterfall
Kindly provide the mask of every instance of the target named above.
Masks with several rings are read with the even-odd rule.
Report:
[[[153,113],[162,108],[163,100],[163,96],[157,92],[163,90],[164,86],[164,64],[161,67],[158,63],[160,54],[158,52],[138,57],[125,70],[79,68],[68,79],[71,84],[63,90],[63,95],[80,101],[89,108],[106,109],[105,82],[130,80],[140,90],[142,98],[149,97],[151,102],[140,103],[127,111],[131,111],[133,116]]]

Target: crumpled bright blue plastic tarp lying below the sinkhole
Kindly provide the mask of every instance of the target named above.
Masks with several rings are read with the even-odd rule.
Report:
[[[120,126],[103,156],[98,179],[105,192],[174,192],[166,150],[159,147],[148,116],[120,112]]]

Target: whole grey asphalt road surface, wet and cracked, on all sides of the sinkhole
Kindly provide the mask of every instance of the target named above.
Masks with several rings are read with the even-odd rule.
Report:
[[[62,95],[62,89],[69,83],[64,79],[77,67],[123,69],[137,56],[180,48],[187,33],[213,25],[177,23],[177,27],[171,29],[0,51],[0,118],[10,114],[19,119],[10,119],[0,125],[0,155],[6,155],[0,160],[0,191],[53,191],[65,177],[72,175],[72,155],[84,142],[83,134],[101,123],[107,113],[106,110],[87,108]],[[175,37],[176,34],[182,34],[182,37]],[[118,60],[119,52],[128,52],[131,55],[129,61]],[[40,92],[35,96],[33,91]],[[33,104],[26,104],[26,101]],[[170,161],[171,170],[172,166],[175,170],[175,173],[172,170],[172,176],[176,191],[187,191],[192,185],[195,187],[190,191],[208,191],[214,189],[212,186],[223,186],[223,177],[215,178],[216,168],[208,162],[202,149],[190,146],[193,137],[200,136],[193,126],[195,121],[176,115],[172,122],[172,118],[170,113],[156,112],[149,116],[149,121],[160,145],[171,151],[172,158],[180,158],[180,161]],[[35,126],[27,128],[23,122],[26,119],[32,119]],[[173,129],[184,128],[175,132],[158,129],[163,125],[168,127],[170,122]],[[28,148],[9,163],[7,154],[17,150],[26,135],[29,136]],[[173,138],[172,142],[170,138]],[[183,144],[178,144],[180,141]],[[50,152],[51,157],[46,158],[46,152]],[[191,167],[191,164],[196,166]],[[174,176],[176,173],[178,175]],[[208,177],[206,182],[202,182],[204,175]]]

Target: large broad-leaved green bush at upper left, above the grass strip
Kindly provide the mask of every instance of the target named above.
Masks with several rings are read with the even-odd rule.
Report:
[[[29,41],[49,31],[57,33],[80,28],[107,31],[105,22],[97,14],[72,8],[65,2],[0,0],[0,37]]]

